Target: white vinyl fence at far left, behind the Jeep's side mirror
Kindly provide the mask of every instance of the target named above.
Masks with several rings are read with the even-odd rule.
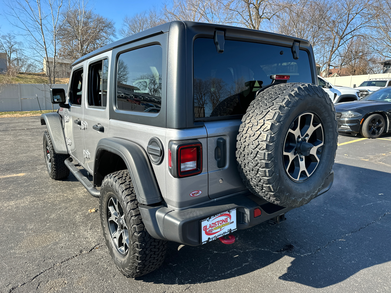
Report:
[[[0,87],[0,112],[51,110],[50,88],[63,88],[68,84],[6,84]],[[38,97],[38,99],[37,99]],[[54,104],[58,109],[58,104]]]

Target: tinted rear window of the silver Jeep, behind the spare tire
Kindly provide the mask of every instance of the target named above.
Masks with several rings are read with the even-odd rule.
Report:
[[[270,84],[271,75],[290,75],[288,82],[312,83],[307,52],[294,60],[291,48],[225,41],[217,53],[213,39],[194,41],[194,118],[246,113],[255,92]]]

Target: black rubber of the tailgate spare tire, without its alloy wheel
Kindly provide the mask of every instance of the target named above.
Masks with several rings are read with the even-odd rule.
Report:
[[[283,150],[288,130],[303,113],[320,119],[324,146],[310,177],[296,181],[285,170]],[[323,89],[305,83],[272,86],[256,96],[242,118],[236,152],[240,176],[252,193],[269,202],[284,207],[307,204],[332,170],[337,138],[334,105]]]

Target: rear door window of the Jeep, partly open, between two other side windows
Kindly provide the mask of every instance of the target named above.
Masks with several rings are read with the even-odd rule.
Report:
[[[91,64],[88,82],[88,105],[106,107],[108,60]]]

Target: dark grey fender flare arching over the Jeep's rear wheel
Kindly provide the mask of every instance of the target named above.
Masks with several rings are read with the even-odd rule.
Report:
[[[103,151],[112,152],[124,160],[135,188],[137,201],[140,204],[157,204],[163,200],[147,153],[137,143],[122,138],[102,138],[99,140],[95,152],[94,186],[99,158]]]

